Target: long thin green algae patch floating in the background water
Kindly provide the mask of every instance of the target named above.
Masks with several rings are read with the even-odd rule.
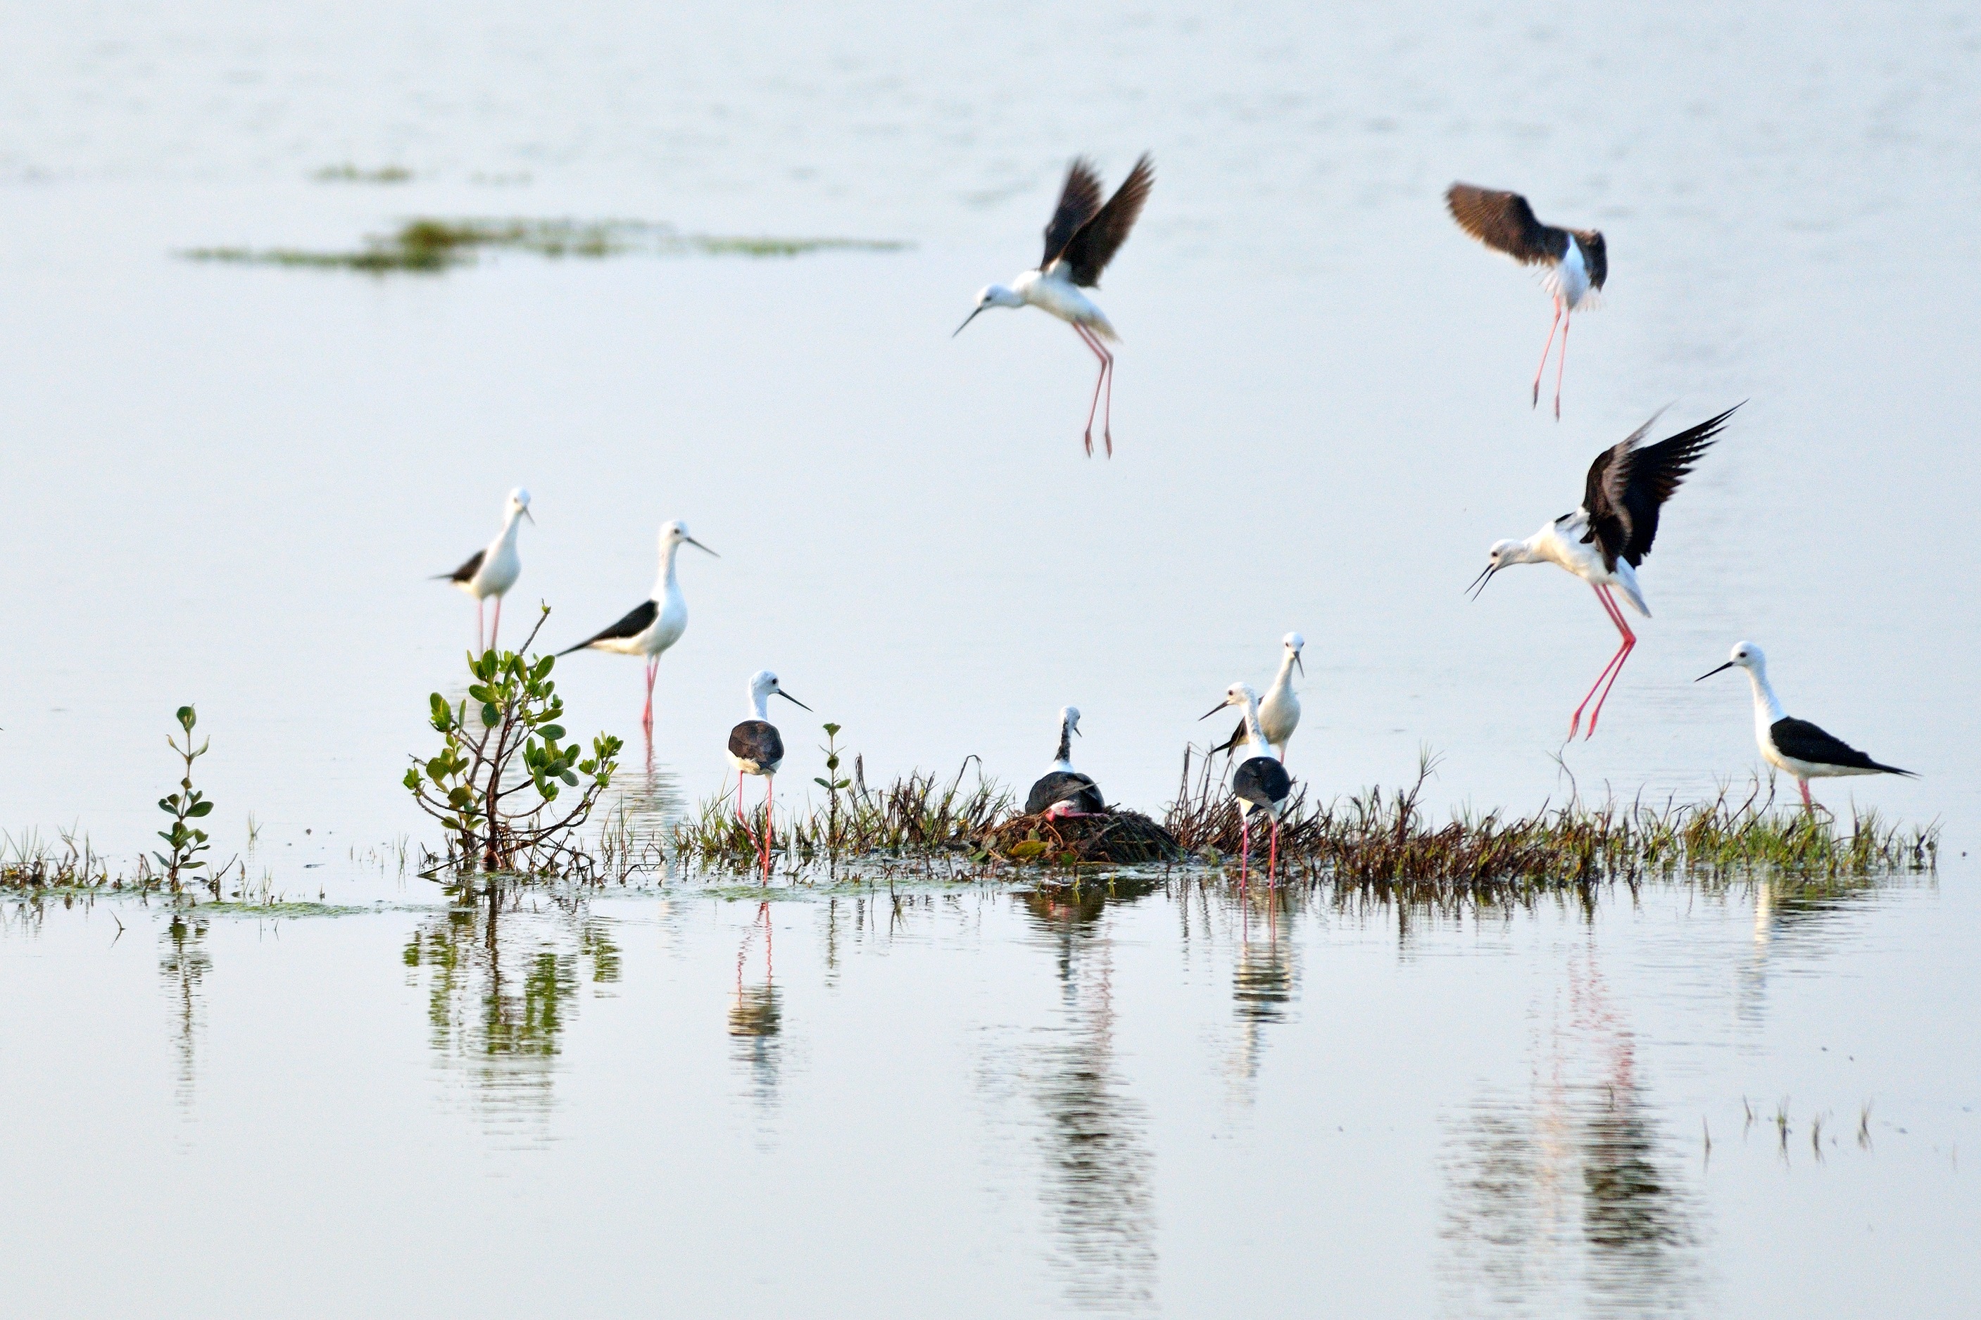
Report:
[[[473,265],[483,251],[527,251],[539,257],[703,255],[802,257],[818,251],[901,251],[909,243],[864,237],[725,237],[679,234],[650,220],[408,220],[392,234],[366,236],[351,251],[305,247],[192,247],[190,261],[293,265],[384,275],[438,273]]]

